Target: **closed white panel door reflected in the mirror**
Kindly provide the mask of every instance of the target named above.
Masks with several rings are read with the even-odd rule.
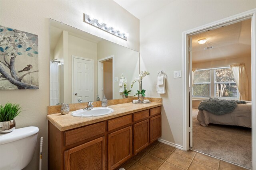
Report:
[[[74,103],[92,100],[92,61],[74,58]]]

